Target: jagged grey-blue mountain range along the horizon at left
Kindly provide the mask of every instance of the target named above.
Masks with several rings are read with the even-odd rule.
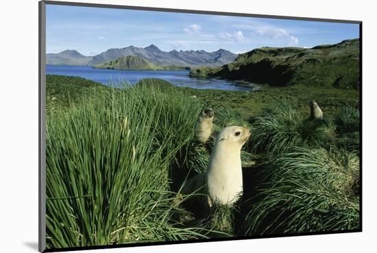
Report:
[[[214,52],[197,51],[161,51],[157,46],[127,46],[123,49],[108,49],[94,56],[85,56],[75,50],[61,53],[47,53],[46,63],[51,65],[88,65],[95,66],[128,55],[142,57],[156,66],[222,66],[236,59],[237,55],[225,49]]]

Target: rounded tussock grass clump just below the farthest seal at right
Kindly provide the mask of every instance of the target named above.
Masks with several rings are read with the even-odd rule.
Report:
[[[320,146],[328,142],[331,120],[308,120],[289,103],[265,109],[253,122],[252,145],[258,152],[281,153],[293,146]]]

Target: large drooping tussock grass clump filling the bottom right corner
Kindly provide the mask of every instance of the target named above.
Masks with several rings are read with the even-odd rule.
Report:
[[[341,149],[294,148],[274,157],[250,200],[247,235],[356,230],[359,159]]]

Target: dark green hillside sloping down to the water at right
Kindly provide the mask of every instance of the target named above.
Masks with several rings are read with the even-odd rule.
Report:
[[[262,47],[239,55],[221,68],[197,68],[192,77],[221,77],[273,86],[306,85],[321,88],[358,88],[359,40],[298,47]]]

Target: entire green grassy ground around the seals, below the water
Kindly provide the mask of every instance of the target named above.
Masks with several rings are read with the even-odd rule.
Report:
[[[308,101],[324,111],[309,121]],[[194,90],[144,79],[125,89],[47,76],[47,245],[60,248],[207,237],[357,230],[358,91]],[[174,204],[187,176],[206,170],[197,115],[216,129],[252,129],[236,209],[202,221]]]

